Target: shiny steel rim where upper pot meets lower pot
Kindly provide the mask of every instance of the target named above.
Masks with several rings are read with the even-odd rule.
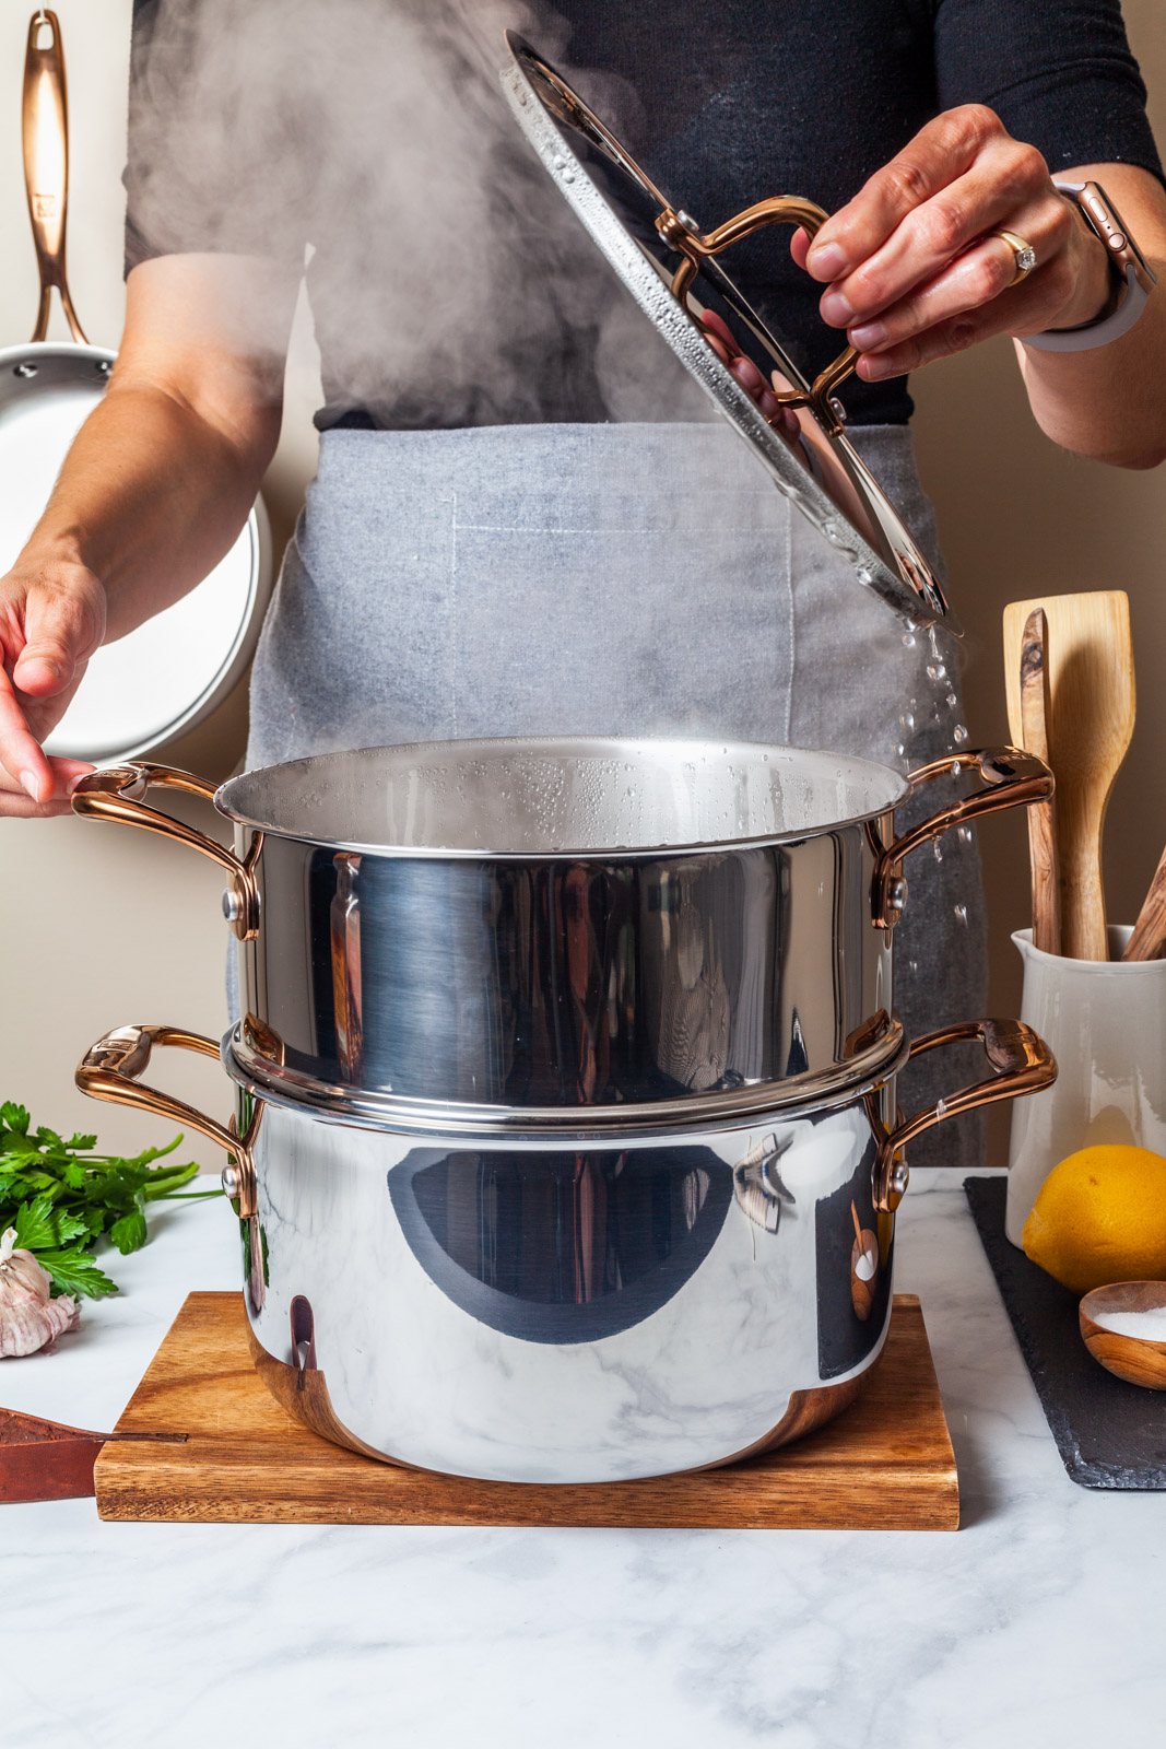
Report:
[[[318,1081],[285,1063],[271,1062],[248,1046],[243,1021],[222,1037],[220,1058],[229,1079],[245,1093],[285,1111],[323,1123],[409,1135],[496,1137],[509,1146],[530,1140],[603,1142],[619,1137],[675,1137],[678,1132],[746,1130],[769,1116],[808,1116],[848,1105],[899,1074],[911,1053],[899,1016],[876,1044],[848,1063],[790,1081],[764,1081],[724,1093],[691,1093],[642,1105],[467,1105],[455,1100],[397,1098],[360,1088]]]

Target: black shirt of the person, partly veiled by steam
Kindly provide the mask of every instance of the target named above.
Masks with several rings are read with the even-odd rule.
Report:
[[[1117,0],[516,12],[706,229],[774,192],[834,210],[928,117],[968,101],[1054,173],[1163,173]],[[505,112],[505,23],[491,0],[136,0],[128,266],[308,250],[322,427],[670,416],[671,364],[650,336],[638,345]],[[788,233],[746,240],[731,271],[804,367],[839,350]],[[904,380],[851,381],[844,401],[860,423],[911,415]]]

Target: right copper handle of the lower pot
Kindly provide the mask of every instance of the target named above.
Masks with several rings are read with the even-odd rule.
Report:
[[[996,1100],[1024,1098],[1026,1093],[1040,1093],[1056,1081],[1056,1060],[1052,1051],[1031,1027],[1023,1020],[965,1020],[958,1027],[940,1027],[916,1039],[911,1056],[921,1056],[940,1044],[954,1044],[961,1039],[979,1039],[993,1069],[986,1081],[975,1081],[970,1088],[961,1088],[951,1098],[940,1098],[913,1118],[900,1118],[879,1142],[874,1160],[874,1207],[886,1214],[897,1209],[907,1189],[907,1161],[902,1156],[907,1142],[927,1130],[933,1130],[946,1118],[958,1118],[963,1111],[975,1111],[977,1105],[995,1105]]]

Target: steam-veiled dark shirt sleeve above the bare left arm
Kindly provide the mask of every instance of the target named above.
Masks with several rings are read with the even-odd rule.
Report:
[[[243,19],[264,10],[248,0]],[[248,77],[255,42],[229,23],[203,0],[135,0],[126,273],[154,255],[205,252],[302,262],[302,213],[264,198],[287,154],[287,105],[271,80]]]

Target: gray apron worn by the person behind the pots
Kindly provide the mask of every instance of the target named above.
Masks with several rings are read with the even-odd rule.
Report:
[[[853,437],[933,554],[907,429]],[[720,423],[332,430],[255,654],[246,763],[482,735],[724,735],[909,770],[965,733],[956,675],[954,640],[906,631]],[[916,852],[909,876],[895,995],[918,1035],[984,1013],[970,834]],[[977,1067],[923,1058],[906,1109]],[[913,1161],[981,1163],[974,1118],[940,1133]]]

